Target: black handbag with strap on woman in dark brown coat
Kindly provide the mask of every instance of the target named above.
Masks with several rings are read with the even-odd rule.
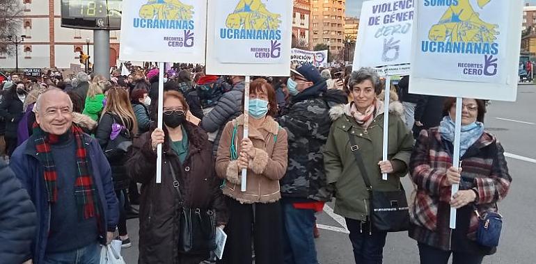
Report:
[[[180,211],[179,252],[205,254],[216,249],[216,214],[210,209],[184,206],[180,183],[171,163],[169,168],[173,176],[173,187],[179,194],[180,204],[183,205]]]

